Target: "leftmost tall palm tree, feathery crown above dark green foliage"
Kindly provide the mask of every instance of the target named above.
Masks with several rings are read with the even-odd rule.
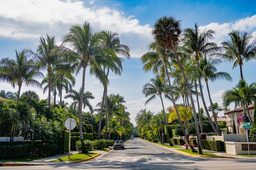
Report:
[[[23,84],[41,88],[40,83],[34,78],[42,78],[43,73],[38,71],[38,65],[34,64],[32,59],[28,60],[25,50],[16,53],[16,59],[9,57],[0,62],[0,80],[11,83],[13,87],[18,86],[18,98],[20,100],[20,89]]]

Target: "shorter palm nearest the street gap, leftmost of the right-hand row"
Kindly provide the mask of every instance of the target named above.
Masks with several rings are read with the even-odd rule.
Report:
[[[162,98],[162,94],[164,93],[164,97],[171,100],[171,98],[167,95],[169,93],[169,88],[166,85],[166,80],[164,80],[164,82],[162,82],[161,77],[159,75],[156,75],[155,78],[150,79],[150,82],[152,82],[152,84],[146,83],[142,89],[142,93],[144,95],[146,95],[146,97],[150,96],[150,98],[145,102],[145,105],[148,104],[151,100],[155,99],[156,95],[160,97],[161,102],[162,102],[162,107],[163,107],[163,113],[164,113],[166,134],[167,134],[170,146],[173,146],[173,144],[171,143],[169,133],[168,133],[166,115],[165,115],[165,111],[164,111],[165,110],[164,102],[163,102],[163,98]]]

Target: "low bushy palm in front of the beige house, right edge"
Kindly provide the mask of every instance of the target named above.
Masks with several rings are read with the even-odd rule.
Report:
[[[248,104],[252,104],[252,101],[256,101],[256,83],[248,85],[244,79],[241,79],[236,87],[222,94],[222,99],[224,107],[228,107],[231,103],[235,104],[235,108],[237,106],[243,106],[245,122],[251,122],[253,124]]]

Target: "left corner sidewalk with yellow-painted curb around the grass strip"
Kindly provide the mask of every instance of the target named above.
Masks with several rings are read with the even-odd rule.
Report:
[[[111,149],[110,149],[111,150]],[[66,157],[68,156],[68,153],[61,154],[61,155],[54,155],[52,157],[46,157],[43,159],[37,159],[34,161],[19,161],[19,162],[11,162],[11,161],[6,161],[6,162],[0,162],[0,166],[33,166],[33,165],[60,165],[60,164],[68,164],[68,163],[78,163],[82,161],[88,161],[90,159],[94,159],[95,157],[98,157],[100,155],[105,155],[109,150],[96,150],[92,151],[94,153],[98,153],[97,155],[94,155],[93,157],[87,158],[87,159],[81,159],[78,161],[58,161],[58,162],[52,162],[55,159],[59,159],[61,157]],[[78,153],[77,151],[70,151],[70,155]]]

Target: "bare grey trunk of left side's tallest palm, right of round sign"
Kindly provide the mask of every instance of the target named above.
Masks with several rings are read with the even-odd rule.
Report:
[[[81,87],[81,96],[79,101],[79,135],[82,143],[83,143],[82,108],[83,108],[83,93],[84,93],[84,86],[85,86],[85,70],[86,68],[83,67],[83,80],[82,80],[82,87]]]

